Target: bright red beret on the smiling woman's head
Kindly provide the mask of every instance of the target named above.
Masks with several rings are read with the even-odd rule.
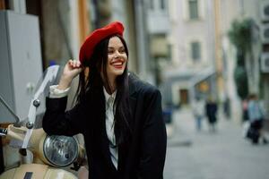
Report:
[[[84,61],[85,59],[90,59],[93,53],[94,47],[100,43],[100,41],[104,38],[108,38],[108,36],[117,34],[119,36],[123,36],[123,31],[125,30],[123,24],[119,21],[114,21],[109,23],[107,26],[94,30],[90,36],[86,38],[82,47],[80,49],[80,61]]]

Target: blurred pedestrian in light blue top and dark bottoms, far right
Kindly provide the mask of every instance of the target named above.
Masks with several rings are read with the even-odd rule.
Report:
[[[249,102],[247,106],[248,111],[248,118],[250,122],[249,132],[252,132],[252,142],[257,144],[259,139],[262,139],[264,143],[267,143],[265,138],[265,132],[263,130],[264,126],[264,119],[265,119],[265,112],[263,107],[256,96],[256,94],[249,95]],[[256,135],[254,135],[257,133]],[[251,134],[248,134],[251,135]]]

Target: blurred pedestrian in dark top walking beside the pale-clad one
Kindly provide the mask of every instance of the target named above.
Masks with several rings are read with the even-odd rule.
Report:
[[[215,132],[215,125],[217,123],[217,111],[218,111],[218,106],[216,104],[216,102],[213,100],[212,97],[208,98],[206,100],[206,104],[205,104],[205,114],[207,116],[208,119],[208,124],[210,127],[210,130],[212,132]]]

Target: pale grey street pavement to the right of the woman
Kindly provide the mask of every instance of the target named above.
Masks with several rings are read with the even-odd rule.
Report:
[[[173,120],[165,179],[269,177],[269,145],[254,146],[243,139],[239,123],[219,117],[217,132],[209,132],[207,121],[203,120],[202,131],[196,132],[194,117],[189,109],[176,111]]]

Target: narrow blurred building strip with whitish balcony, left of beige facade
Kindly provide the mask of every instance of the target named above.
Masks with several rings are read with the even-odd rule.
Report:
[[[161,69],[170,60],[168,36],[170,33],[168,1],[151,0],[147,4],[146,24],[149,40],[150,66],[153,81],[159,86],[163,81]]]

